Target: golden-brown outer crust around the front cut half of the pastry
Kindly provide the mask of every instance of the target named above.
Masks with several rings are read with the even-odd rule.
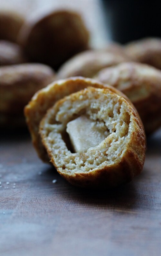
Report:
[[[77,93],[74,93],[68,97],[65,97],[62,100],[57,101],[57,103],[48,111],[44,119],[41,121],[40,124],[40,133],[42,137],[42,141],[44,146],[46,147],[46,150],[48,152],[48,155],[51,159],[52,164],[55,166],[57,171],[62,175],[68,182],[70,182],[72,185],[75,186],[80,186],[80,187],[87,187],[87,188],[110,188],[110,187],[115,187],[117,185],[129,182],[133,179],[135,175],[138,175],[144,165],[144,160],[145,160],[145,135],[144,131],[142,128],[142,125],[140,124],[137,115],[134,111],[134,109],[128,104],[127,104],[127,111],[128,114],[130,115],[130,121],[132,122],[132,125],[130,126],[130,132],[128,132],[128,143],[126,144],[126,148],[124,148],[124,153],[121,156],[121,159],[118,157],[116,161],[112,164],[105,164],[104,167],[100,165],[96,166],[96,168],[91,169],[88,172],[85,171],[66,171],[66,166],[62,168],[62,164],[60,165],[60,162],[58,164],[56,158],[55,158],[55,153],[54,149],[50,145],[50,139],[48,139],[47,133],[45,133],[45,127],[47,125],[47,119],[51,115],[53,115],[53,123],[55,119],[55,115],[57,111],[61,108],[62,104],[68,100],[69,98],[71,101],[75,101],[77,99],[80,99],[80,95],[83,93],[88,93],[89,90],[96,91],[98,89],[96,88],[88,88],[86,92],[79,91]],[[84,90],[85,91],[85,90]],[[114,95],[115,93],[111,92],[109,89],[101,89],[102,93],[108,93]],[[114,96],[115,97],[115,96]],[[125,100],[120,97],[116,96],[120,101]],[[50,118],[51,118],[50,117]],[[53,142],[52,142],[53,145]],[[106,150],[105,150],[106,151]],[[66,152],[66,151],[65,151]],[[68,153],[65,153],[68,154]],[[88,159],[88,152],[85,153],[87,154],[87,159]],[[70,161],[70,156],[72,154],[69,154],[69,161]],[[75,153],[73,154],[73,158]],[[83,154],[84,155],[84,154]],[[80,159],[81,156],[79,155]],[[61,158],[62,159],[62,158]],[[63,161],[63,160],[62,160]],[[76,160],[74,160],[76,163]],[[77,164],[76,164],[77,166]]]

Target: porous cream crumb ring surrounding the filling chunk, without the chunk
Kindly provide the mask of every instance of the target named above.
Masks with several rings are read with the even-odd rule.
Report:
[[[89,172],[112,165],[119,161],[128,143],[132,125],[128,103],[109,90],[102,93],[102,89],[90,89],[66,97],[50,109],[45,119],[42,130],[45,143],[61,172]],[[92,120],[93,125],[107,136],[86,152],[73,153],[67,145],[69,140],[63,138],[68,122],[81,115]]]

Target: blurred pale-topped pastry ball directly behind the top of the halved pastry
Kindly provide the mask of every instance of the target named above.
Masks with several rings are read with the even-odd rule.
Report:
[[[108,50],[88,50],[81,52],[65,62],[58,71],[60,79],[71,76],[94,77],[99,70],[127,62],[129,58],[121,53]]]

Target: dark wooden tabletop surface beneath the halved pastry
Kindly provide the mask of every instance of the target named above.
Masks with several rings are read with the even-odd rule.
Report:
[[[147,145],[131,183],[89,191],[43,164],[27,131],[1,131],[0,255],[159,256],[161,130]]]

